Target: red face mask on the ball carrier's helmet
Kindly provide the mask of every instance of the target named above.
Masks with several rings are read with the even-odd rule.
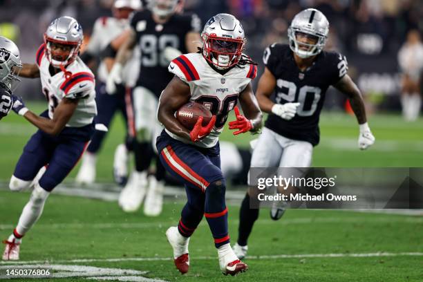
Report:
[[[244,48],[243,39],[225,37],[203,38],[205,58],[217,68],[224,69],[234,66],[241,59]]]

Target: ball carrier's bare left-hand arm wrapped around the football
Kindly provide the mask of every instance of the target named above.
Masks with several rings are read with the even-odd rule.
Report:
[[[191,97],[191,93],[188,84],[182,82],[176,76],[173,77],[171,82],[164,88],[162,95],[160,95],[157,116],[159,122],[167,130],[187,140],[191,140],[189,130],[176,120],[175,113],[181,106],[187,104],[189,97]]]

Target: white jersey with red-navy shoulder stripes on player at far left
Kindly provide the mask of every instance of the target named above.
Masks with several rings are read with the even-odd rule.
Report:
[[[63,71],[51,75],[49,71],[50,62],[44,50],[43,44],[37,51],[37,65],[41,78],[43,93],[48,99],[48,117],[53,118],[53,113],[64,97],[68,99],[79,99],[77,109],[71,120],[66,124],[70,127],[81,127],[91,124],[97,115],[95,104],[95,79],[91,70],[82,62],[79,57],[66,67],[71,75],[65,77]]]

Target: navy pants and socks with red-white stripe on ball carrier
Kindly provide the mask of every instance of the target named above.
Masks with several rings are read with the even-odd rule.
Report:
[[[178,223],[179,233],[191,236],[204,214],[215,246],[229,243],[219,144],[200,148],[175,140],[162,131],[156,145],[165,169],[184,183],[187,192],[188,200]]]

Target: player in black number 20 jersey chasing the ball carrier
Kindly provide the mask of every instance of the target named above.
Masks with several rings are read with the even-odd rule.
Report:
[[[313,147],[319,143],[319,115],[331,85],[350,100],[359,123],[359,149],[367,149],[375,142],[361,93],[347,74],[346,58],[323,51],[328,32],[329,23],[323,13],[303,10],[288,29],[289,46],[272,44],[265,49],[265,71],[260,77],[257,100],[261,110],[270,115],[252,153],[251,167],[310,167]],[[279,211],[281,214],[283,211]],[[247,254],[247,238],[258,217],[259,209],[250,209],[247,192],[234,246],[238,257]],[[277,219],[277,214],[272,218]]]

